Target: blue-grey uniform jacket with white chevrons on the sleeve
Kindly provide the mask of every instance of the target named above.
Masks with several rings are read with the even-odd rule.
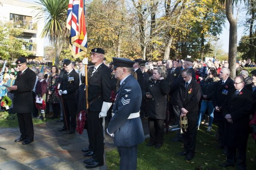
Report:
[[[114,133],[114,144],[118,147],[131,147],[142,143],[144,132],[140,117],[127,119],[131,113],[140,111],[142,93],[134,77],[128,76],[117,91],[113,113],[108,124],[108,132]]]

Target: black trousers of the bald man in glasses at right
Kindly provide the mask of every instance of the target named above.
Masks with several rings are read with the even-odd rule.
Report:
[[[237,151],[237,155],[236,155]],[[227,162],[234,164],[236,161],[239,170],[246,170],[246,144],[240,147],[227,146]]]

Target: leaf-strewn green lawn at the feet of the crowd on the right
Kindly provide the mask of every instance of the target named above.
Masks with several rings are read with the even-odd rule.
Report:
[[[172,142],[170,139],[175,137],[176,132],[169,132],[164,136],[164,144],[160,149],[147,147],[149,139],[138,147],[137,170],[221,170],[218,164],[224,163],[226,155],[222,154],[221,149],[217,149],[216,142],[217,127],[213,126],[211,132],[207,132],[207,127],[200,126],[197,131],[197,142],[195,148],[195,158],[185,161],[183,156],[177,156],[178,152],[183,151],[183,144]],[[247,169],[255,170],[256,167],[256,144],[251,135],[247,145]],[[111,150],[106,154],[108,170],[119,170],[118,151]],[[222,168],[223,170],[234,170],[236,168]]]

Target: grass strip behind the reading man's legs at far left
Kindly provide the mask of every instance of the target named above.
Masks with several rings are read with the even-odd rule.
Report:
[[[53,119],[46,118],[45,121],[41,119],[33,119],[33,124],[49,122],[49,121],[53,121]],[[18,119],[0,119],[0,128],[2,127],[19,127]]]

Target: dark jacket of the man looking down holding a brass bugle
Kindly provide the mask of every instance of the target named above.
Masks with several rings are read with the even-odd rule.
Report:
[[[200,99],[201,88],[198,82],[192,79],[187,90],[185,89],[185,83],[180,84],[177,94],[177,105],[179,109],[185,108],[189,113],[198,112]]]

